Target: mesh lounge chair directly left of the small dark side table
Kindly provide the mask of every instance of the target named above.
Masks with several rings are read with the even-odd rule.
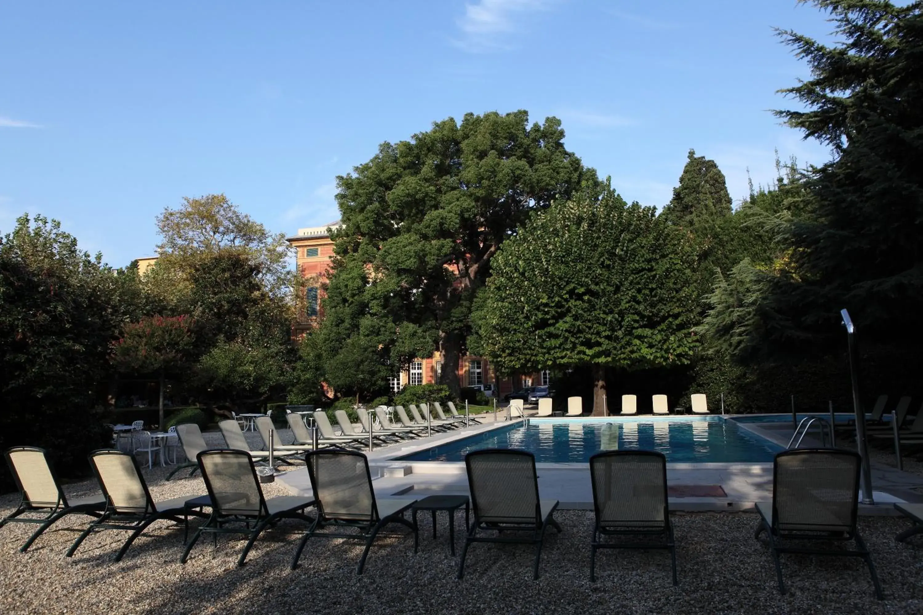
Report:
[[[410,527],[414,531],[414,553],[419,546],[419,534],[414,522],[403,514],[416,500],[389,498],[378,500],[372,490],[372,476],[366,455],[355,451],[316,451],[305,455],[307,472],[317,499],[318,518],[307,531],[292,559],[292,570],[298,567],[307,539],[353,538],[366,541],[366,549],[356,568],[362,574],[366,557],[381,528],[390,523]],[[321,532],[326,527],[351,527],[354,532]]]

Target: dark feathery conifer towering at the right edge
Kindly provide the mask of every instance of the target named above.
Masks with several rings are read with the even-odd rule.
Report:
[[[770,275],[739,271],[728,289],[737,290],[713,297],[710,317],[748,355],[767,343],[775,355],[842,344],[844,307],[881,343],[921,337],[923,3],[812,4],[838,42],[779,31],[811,78],[782,90],[804,108],[776,114],[832,148],[833,160],[805,171],[803,215],[779,220],[784,261]]]

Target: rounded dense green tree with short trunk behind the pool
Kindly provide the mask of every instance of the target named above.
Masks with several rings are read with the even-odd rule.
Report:
[[[689,362],[696,347],[686,233],[653,207],[559,201],[504,243],[474,313],[477,345],[501,372],[593,370],[604,413],[605,368]]]

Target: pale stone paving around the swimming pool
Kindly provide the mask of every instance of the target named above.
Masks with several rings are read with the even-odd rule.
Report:
[[[462,462],[401,461],[395,457],[447,444],[473,434],[497,429],[509,422],[505,413],[479,416],[482,425],[376,448],[367,454],[378,497],[468,495]],[[565,419],[566,420],[566,419]],[[790,423],[747,423],[747,429],[785,447],[792,435]],[[807,442],[806,442],[807,444]],[[586,464],[536,464],[543,498],[557,499],[562,509],[592,510],[593,491]],[[895,502],[923,503],[923,477],[893,467],[872,464],[874,505],[860,504],[859,514],[896,514]],[[667,488],[673,511],[745,511],[773,497],[773,464],[684,463],[667,464]],[[299,495],[311,495],[307,470],[286,472],[279,480]],[[723,493],[723,494],[722,494]]]

